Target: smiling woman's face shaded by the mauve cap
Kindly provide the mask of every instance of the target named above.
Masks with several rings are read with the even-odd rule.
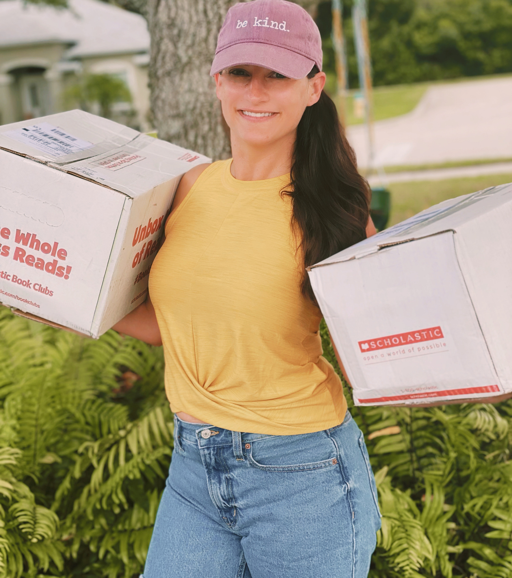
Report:
[[[267,146],[292,136],[306,109],[318,101],[325,73],[294,80],[261,66],[240,64],[215,75],[231,139]]]

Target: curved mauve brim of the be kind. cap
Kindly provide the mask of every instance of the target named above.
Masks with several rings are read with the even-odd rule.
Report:
[[[315,62],[281,46],[262,42],[242,42],[228,46],[215,55],[210,76],[238,64],[262,66],[298,80],[309,74]]]

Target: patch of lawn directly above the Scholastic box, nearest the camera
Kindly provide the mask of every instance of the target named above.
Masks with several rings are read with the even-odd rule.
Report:
[[[389,216],[388,227],[446,199],[511,182],[512,174],[482,175],[480,177],[465,177],[463,179],[447,179],[443,181],[391,183],[389,184],[391,215]]]

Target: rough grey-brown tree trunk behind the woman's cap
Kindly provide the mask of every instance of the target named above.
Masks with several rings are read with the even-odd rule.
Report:
[[[317,0],[296,0],[313,12]],[[231,155],[210,67],[217,35],[236,0],[116,0],[139,12],[151,36],[149,83],[158,138],[213,160]]]

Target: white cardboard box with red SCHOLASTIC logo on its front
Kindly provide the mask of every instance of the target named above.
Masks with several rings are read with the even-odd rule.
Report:
[[[357,405],[512,391],[512,184],[433,206],[309,276]]]

